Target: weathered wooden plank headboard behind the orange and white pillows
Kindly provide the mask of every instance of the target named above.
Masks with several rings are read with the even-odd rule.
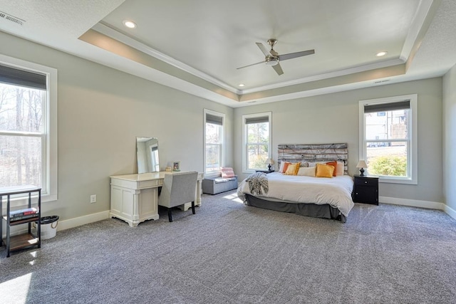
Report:
[[[344,163],[343,174],[348,174],[348,149],[346,143],[320,145],[279,145],[277,162],[331,162],[338,160]]]

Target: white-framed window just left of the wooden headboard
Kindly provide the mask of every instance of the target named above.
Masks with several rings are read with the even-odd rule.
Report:
[[[266,160],[271,158],[271,112],[242,115],[242,130],[243,171],[266,169]]]

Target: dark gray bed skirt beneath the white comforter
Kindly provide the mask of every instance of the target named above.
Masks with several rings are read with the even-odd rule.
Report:
[[[267,201],[259,199],[256,196],[245,194],[245,204],[263,209],[274,211],[289,212],[299,214],[302,216],[318,217],[322,219],[336,219],[342,223],[346,222],[346,216],[341,214],[339,209],[331,205],[317,205],[317,204],[304,204],[304,203],[287,203],[281,201]]]

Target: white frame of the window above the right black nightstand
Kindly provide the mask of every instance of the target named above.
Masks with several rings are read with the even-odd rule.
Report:
[[[410,122],[408,122],[408,151],[407,151],[407,177],[385,177],[380,176],[379,182],[393,184],[418,184],[418,94],[400,95],[388,98],[375,98],[359,100],[359,159],[366,159],[367,142],[366,140],[366,116],[364,115],[365,105],[379,105],[385,103],[398,103],[400,101],[410,101]],[[383,140],[391,141],[391,140]],[[368,169],[367,169],[368,170]]]

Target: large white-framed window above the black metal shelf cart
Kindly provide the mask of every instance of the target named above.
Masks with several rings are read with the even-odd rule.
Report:
[[[0,184],[57,199],[57,71],[0,56]]]

